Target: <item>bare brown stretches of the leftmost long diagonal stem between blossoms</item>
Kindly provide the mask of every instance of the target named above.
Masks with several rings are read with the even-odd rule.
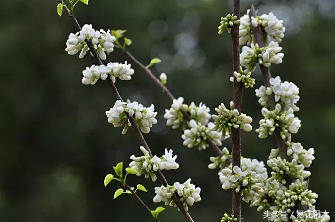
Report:
[[[59,3],[65,5],[64,1],[63,0],[58,0]],[[74,16],[73,13],[71,13],[71,11],[65,7],[65,10],[66,10],[66,13],[67,15],[72,19],[74,25],[76,26],[76,28],[78,29],[78,31],[80,31],[82,28],[80,26],[80,24],[78,23],[77,21],[77,18]],[[103,65],[101,59],[100,59],[100,56],[99,54],[97,53],[97,51],[95,50],[95,48],[93,47],[93,45],[91,44],[90,41],[88,41],[87,39],[85,40],[86,41],[86,44],[88,45],[89,47],[89,50],[93,53],[93,55],[97,58],[98,62]],[[114,91],[114,94],[116,95],[117,99],[122,100],[122,97],[121,95],[119,94],[119,92],[117,91],[117,88],[114,84],[114,82],[111,80],[111,79],[108,79],[113,91]],[[134,119],[134,117],[130,116],[127,112],[126,112],[126,115],[129,119],[129,122],[132,124],[132,127],[134,128],[134,131],[135,131],[135,134],[137,136],[137,138],[139,139],[141,145],[149,152],[150,156],[152,157],[152,153],[151,153],[151,150],[147,144],[147,142],[145,141],[142,133],[141,133],[141,130],[140,128],[138,127],[137,123],[136,123],[136,120]],[[158,180],[164,185],[164,186],[167,186],[168,185],[168,182],[166,180],[166,178],[164,177],[164,175],[162,174],[162,172],[160,170],[157,171],[157,178]],[[178,208],[182,211],[186,221],[188,222],[194,222],[191,215],[187,212],[187,210],[185,209],[185,207],[183,206],[183,203],[181,202],[181,200],[177,197],[176,194],[173,195],[173,200],[174,202],[176,203],[176,205],[178,206]]]

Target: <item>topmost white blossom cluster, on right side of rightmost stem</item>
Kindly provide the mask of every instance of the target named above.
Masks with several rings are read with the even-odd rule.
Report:
[[[271,41],[278,43],[282,42],[286,29],[283,26],[283,20],[278,20],[272,12],[257,16],[256,18],[251,17],[251,24],[254,27],[257,27],[258,25],[262,26],[267,34],[267,43],[270,43]]]

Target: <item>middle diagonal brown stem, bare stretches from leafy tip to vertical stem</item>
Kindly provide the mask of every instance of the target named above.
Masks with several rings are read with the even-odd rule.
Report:
[[[151,79],[160,87],[162,88],[163,92],[168,96],[168,98],[173,101],[175,99],[174,95],[171,93],[171,91],[168,89],[168,87],[166,87],[165,85],[163,85],[163,83],[151,72],[151,70],[149,68],[147,68],[145,65],[143,65],[140,61],[138,61],[133,55],[132,53],[130,53],[128,50],[124,50],[125,54],[131,58],[138,66],[140,66],[150,77]],[[191,116],[186,113],[185,111],[182,111],[184,119],[187,121],[190,121],[192,118]],[[218,155],[218,156],[223,156],[223,152],[220,148],[218,148],[218,146],[213,143],[213,141],[211,139],[207,139],[206,142],[209,144],[209,147]],[[230,162],[231,159],[228,159],[228,161]]]

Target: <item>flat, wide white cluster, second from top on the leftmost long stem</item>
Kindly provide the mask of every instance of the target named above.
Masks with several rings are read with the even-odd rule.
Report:
[[[121,80],[130,80],[133,74],[134,69],[130,68],[130,64],[127,64],[127,61],[124,64],[108,63],[106,66],[92,65],[91,67],[86,67],[86,70],[83,70],[84,77],[82,83],[84,85],[94,85],[100,78],[106,80],[108,76],[114,83],[116,77]]]

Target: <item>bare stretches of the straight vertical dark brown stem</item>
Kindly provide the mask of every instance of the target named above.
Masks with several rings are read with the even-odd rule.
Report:
[[[234,0],[234,15],[240,18],[240,0]],[[239,25],[232,27],[232,54],[233,54],[233,73],[238,72],[240,68],[240,45],[239,45]],[[234,108],[242,112],[242,83],[237,82],[234,76]],[[241,166],[241,128],[232,128],[232,158],[233,166]],[[241,222],[241,192],[232,189],[232,214]]]

